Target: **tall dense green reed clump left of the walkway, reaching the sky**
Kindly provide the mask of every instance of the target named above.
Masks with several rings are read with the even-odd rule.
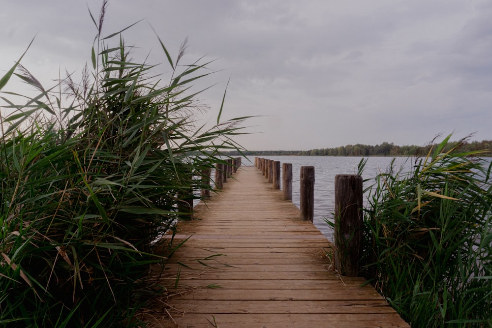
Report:
[[[173,60],[157,37],[172,71],[161,81],[156,66],[130,58],[121,32],[102,37],[106,5],[91,14],[92,68],[80,83],[67,76],[45,89],[20,60],[0,80],[39,91],[2,96],[2,327],[137,325],[134,312],[157,288],[149,265],[165,260],[153,240],[186,214],[178,208],[193,189],[211,188],[193,177],[239,149],[231,137],[245,118],[221,122],[221,107],[214,127],[196,125],[204,108],[190,87],[208,63],[181,63],[185,46]]]

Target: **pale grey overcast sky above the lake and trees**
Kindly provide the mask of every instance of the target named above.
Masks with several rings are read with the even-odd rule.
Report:
[[[0,77],[22,64],[45,86],[91,62],[102,0],[2,0]],[[109,0],[102,34],[123,32],[132,56],[169,64],[205,56],[195,88],[216,120],[254,116],[248,150],[492,140],[490,0]],[[154,33],[155,30],[155,33]],[[117,44],[115,45],[117,46]],[[166,64],[167,63],[167,64]],[[13,81],[3,91],[29,88]]]

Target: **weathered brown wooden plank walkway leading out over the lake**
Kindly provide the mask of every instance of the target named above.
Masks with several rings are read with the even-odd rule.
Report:
[[[260,171],[234,178],[180,224],[191,237],[169,264],[174,295],[149,327],[409,327],[364,279],[333,271],[329,241]]]

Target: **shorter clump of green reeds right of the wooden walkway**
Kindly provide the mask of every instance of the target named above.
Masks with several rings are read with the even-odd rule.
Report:
[[[412,327],[492,327],[491,166],[449,138],[376,177],[364,274]]]

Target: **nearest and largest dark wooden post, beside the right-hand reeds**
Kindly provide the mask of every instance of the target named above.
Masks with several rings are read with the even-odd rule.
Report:
[[[335,176],[335,268],[340,274],[359,274],[362,253],[362,177]]]

